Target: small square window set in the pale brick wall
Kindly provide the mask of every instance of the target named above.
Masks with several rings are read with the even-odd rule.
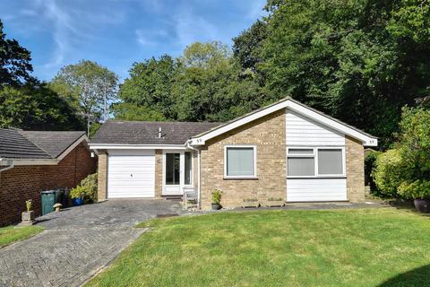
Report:
[[[226,146],[224,175],[231,178],[256,177],[255,146]]]

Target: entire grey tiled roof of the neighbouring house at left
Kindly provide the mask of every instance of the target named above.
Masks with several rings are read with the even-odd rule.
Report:
[[[0,158],[56,159],[85,132],[22,131],[0,128]]]

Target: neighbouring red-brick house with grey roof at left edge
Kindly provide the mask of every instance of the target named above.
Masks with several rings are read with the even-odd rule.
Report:
[[[97,170],[85,132],[0,129],[0,225],[21,220],[25,201],[40,213],[40,192],[76,187]]]

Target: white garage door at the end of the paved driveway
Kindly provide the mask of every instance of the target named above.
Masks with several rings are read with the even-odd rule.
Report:
[[[155,152],[110,151],[107,160],[107,197],[154,197]]]

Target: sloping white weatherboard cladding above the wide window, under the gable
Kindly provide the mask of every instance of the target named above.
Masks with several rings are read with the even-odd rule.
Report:
[[[288,146],[345,145],[345,135],[288,109],[286,111],[286,129]]]

